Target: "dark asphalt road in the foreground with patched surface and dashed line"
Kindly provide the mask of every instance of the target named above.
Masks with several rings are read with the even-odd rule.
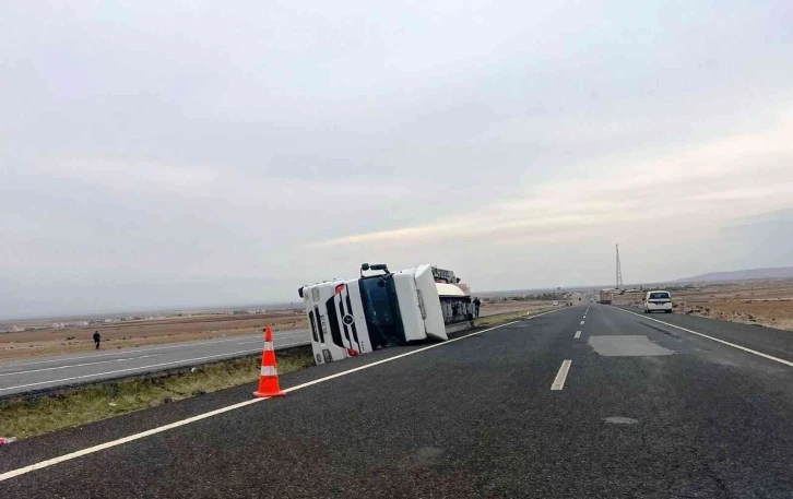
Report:
[[[20,441],[0,497],[793,496],[789,338],[587,309],[291,373],[285,397],[229,408],[239,387]]]

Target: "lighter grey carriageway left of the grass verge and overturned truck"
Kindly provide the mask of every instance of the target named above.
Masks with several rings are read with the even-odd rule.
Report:
[[[273,334],[275,348],[310,342],[308,330]],[[0,363],[0,396],[123,378],[261,352],[262,334]]]

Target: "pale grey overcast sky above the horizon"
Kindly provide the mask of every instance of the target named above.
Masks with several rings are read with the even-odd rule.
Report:
[[[788,1],[493,3],[3,1],[0,317],[793,265]]]

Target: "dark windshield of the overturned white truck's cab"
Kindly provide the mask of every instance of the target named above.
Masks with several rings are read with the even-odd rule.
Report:
[[[358,287],[372,346],[383,347],[404,342],[405,332],[393,280],[362,278]]]

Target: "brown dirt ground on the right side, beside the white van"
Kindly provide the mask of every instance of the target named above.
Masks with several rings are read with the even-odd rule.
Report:
[[[793,331],[793,280],[709,284],[670,292],[675,313]],[[615,305],[641,306],[643,295],[614,298]]]

